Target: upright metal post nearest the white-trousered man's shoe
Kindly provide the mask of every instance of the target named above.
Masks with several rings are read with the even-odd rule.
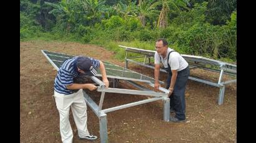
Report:
[[[99,133],[101,143],[107,143],[107,114],[103,112],[99,115]]]

